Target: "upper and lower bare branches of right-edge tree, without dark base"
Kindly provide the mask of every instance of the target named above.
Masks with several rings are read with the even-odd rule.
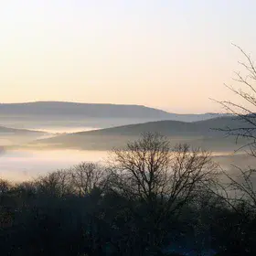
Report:
[[[235,136],[236,141],[240,138],[246,139],[245,144],[240,147],[246,148],[246,153],[256,157],[256,67],[251,55],[246,53],[239,46],[234,45],[240,50],[244,61],[239,61],[241,70],[235,72],[235,86],[225,84],[229,91],[238,95],[240,102],[218,101],[219,104],[234,118],[240,121],[238,127],[220,127],[219,130],[228,135]],[[249,148],[249,150],[248,150]],[[247,206],[256,209],[256,182],[255,169],[248,167],[247,170],[239,166],[233,166],[239,170],[238,176],[228,177],[228,183],[219,185],[222,198],[226,198],[229,206],[235,209],[235,206],[246,202]]]

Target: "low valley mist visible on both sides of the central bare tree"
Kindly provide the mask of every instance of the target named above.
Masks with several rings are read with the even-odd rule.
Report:
[[[108,156],[109,151],[6,149],[0,154],[0,176],[14,182],[26,181],[80,162],[104,163]],[[233,165],[247,167],[256,164],[256,159],[246,154],[213,152],[212,157],[223,169],[234,175],[238,170]]]

